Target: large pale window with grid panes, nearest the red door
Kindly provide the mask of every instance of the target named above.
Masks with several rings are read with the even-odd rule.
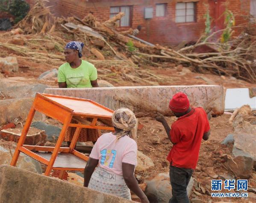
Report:
[[[196,3],[176,4],[176,23],[196,22]]]

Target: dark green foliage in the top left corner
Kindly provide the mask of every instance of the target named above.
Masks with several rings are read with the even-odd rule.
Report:
[[[28,13],[29,4],[24,0],[0,0],[0,11],[14,15],[14,23],[18,23]]]

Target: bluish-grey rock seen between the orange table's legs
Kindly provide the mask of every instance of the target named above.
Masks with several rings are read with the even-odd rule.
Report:
[[[59,137],[59,133],[62,130],[59,127],[48,125],[48,124],[40,122],[40,121],[33,122],[31,124],[31,127],[40,129],[40,130],[44,130],[45,133],[47,134],[47,140],[50,140],[50,141],[56,140],[53,138],[53,136]]]

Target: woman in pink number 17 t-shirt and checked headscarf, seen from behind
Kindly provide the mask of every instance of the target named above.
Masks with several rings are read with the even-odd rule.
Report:
[[[134,177],[137,143],[131,138],[131,131],[136,117],[130,109],[121,108],[113,113],[112,123],[115,132],[101,135],[91,151],[84,186],[129,200],[132,190],[142,203],[149,203]]]

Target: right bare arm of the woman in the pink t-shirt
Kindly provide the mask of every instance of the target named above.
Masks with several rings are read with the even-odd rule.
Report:
[[[134,165],[129,163],[122,163],[124,181],[127,184],[128,188],[141,199],[142,203],[149,203],[147,196],[141,190],[137,180],[134,177],[134,169]]]

